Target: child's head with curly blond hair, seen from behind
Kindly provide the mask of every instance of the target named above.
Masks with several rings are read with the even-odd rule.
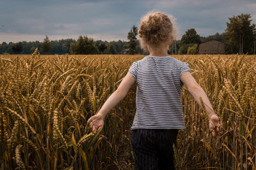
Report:
[[[162,12],[149,12],[141,18],[138,30],[141,46],[159,46],[172,44],[177,36],[175,18]]]

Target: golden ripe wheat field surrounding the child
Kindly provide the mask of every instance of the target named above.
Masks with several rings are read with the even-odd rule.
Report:
[[[136,84],[104,127],[86,124],[143,55],[0,55],[1,169],[134,169]],[[255,169],[256,55],[173,55],[188,62],[223,122],[212,138],[184,86],[177,169]]]

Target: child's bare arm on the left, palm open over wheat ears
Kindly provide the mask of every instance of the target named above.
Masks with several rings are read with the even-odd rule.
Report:
[[[111,94],[111,96],[108,97],[106,102],[100,108],[97,115],[94,115],[93,117],[90,117],[88,119],[87,123],[90,124],[90,128],[93,132],[97,131],[99,127],[102,127],[104,125],[104,118],[106,117],[107,113],[112,108],[114,108],[116,104],[118,104],[122,99],[124,99],[124,97],[126,96],[127,92],[129,91],[134,82],[134,77],[128,71],[128,73],[118,86],[118,89],[116,89],[115,92],[113,92],[113,94]]]

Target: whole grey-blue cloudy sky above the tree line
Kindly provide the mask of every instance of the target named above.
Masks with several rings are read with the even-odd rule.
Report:
[[[0,43],[43,41],[87,35],[95,40],[127,41],[132,25],[148,11],[172,14],[179,36],[195,28],[200,36],[224,32],[228,17],[250,13],[256,24],[256,0],[1,0]]]

